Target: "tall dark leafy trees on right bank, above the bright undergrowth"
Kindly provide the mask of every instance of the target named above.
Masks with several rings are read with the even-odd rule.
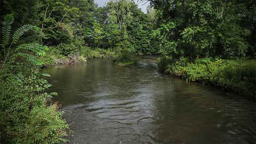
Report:
[[[160,53],[192,62],[199,57],[241,58],[255,53],[254,0],[150,0],[156,9]]]

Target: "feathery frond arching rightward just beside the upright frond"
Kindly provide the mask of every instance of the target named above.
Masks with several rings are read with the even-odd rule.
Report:
[[[15,30],[14,34],[13,34],[13,43],[17,44],[19,38],[24,35],[28,30],[32,30],[32,29],[37,29],[36,26],[30,25],[30,24],[26,24],[21,26],[20,28],[18,28],[17,30]]]

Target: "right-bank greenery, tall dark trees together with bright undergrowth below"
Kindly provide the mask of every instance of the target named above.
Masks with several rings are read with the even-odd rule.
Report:
[[[255,97],[255,1],[151,0],[161,71]],[[248,57],[249,60],[243,60]],[[235,59],[235,60],[232,60]]]

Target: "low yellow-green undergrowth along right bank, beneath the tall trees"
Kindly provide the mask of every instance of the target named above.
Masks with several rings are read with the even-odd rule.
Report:
[[[255,100],[255,60],[200,58],[190,63],[186,58],[175,60],[166,56],[159,59],[158,68],[187,82],[222,87]]]

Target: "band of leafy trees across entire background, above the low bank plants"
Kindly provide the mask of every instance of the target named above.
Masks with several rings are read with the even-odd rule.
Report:
[[[138,4],[149,3],[147,14]],[[136,5],[137,4],[137,5]],[[14,27],[39,27],[29,39],[61,54],[91,49],[172,56],[245,57],[255,53],[255,1],[22,0],[1,2]]]

